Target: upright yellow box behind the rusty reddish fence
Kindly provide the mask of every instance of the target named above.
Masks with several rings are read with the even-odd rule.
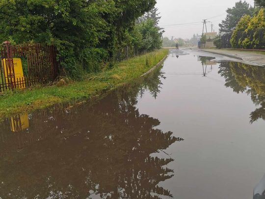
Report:
[[[5,76],[5,81],[10,82],[10,78],[14,76],[13,70],[11,68],[11,71],[6,63],[6,59],[2,59],[3,67],[4,67],[4,76]],[[13,63],[14,63],[14,72],[15,72],[15,82],[17,82],[16,85],[18,85],[19,88],[26,88],[26,85],[24,82],[24,73],[23,73],[23,68],[22,68],[22,62],[20,58],[13,58]],[[7,66],[7,69],[6,69]],[[9,81],[8,81],[9,79]]]

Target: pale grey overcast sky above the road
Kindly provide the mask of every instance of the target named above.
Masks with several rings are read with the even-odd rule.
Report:
[[[194,33],[201,35],[203,19],[211,21],[213,29],[218,31],[218,24],[226,17],[226,9],[233,7],[237,1],[239,0],[157,0],[162,17],[159,25],[165,28],[164,36],[169,38],[174,36],[190,39]],[[246,1],[254,5],[254,0]],[[211,23],[207,24],[207,30],[211,31]]]

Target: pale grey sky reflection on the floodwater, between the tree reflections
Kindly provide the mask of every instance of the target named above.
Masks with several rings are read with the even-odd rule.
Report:
[[[175,159],[168,165],[175,176],[159,185],[176,199],[251,199],[265,173],[265,154],[259,153],[264,151],[265,122],[250,124],[256,106],[246,93],[224,86],[219,64],[202,77],[197,55],[211,54],[187,52],[165,61],[166,79],[157,99],[145,93],[137,104],[141,114],[159,119],[157,128],[185,139],[165,150]]]

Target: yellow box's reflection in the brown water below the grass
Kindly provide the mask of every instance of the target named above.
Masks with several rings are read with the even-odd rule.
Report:
[[[28,114],[24,113],[11,117],[11,131],[21,132],[29,127]]]

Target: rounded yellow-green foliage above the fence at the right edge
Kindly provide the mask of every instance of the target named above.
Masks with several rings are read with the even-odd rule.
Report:
[[[265,48],[265,14],[260,9],[252,18],[243,16],[238,22],[231,38],[233,48],[264,49]]]

